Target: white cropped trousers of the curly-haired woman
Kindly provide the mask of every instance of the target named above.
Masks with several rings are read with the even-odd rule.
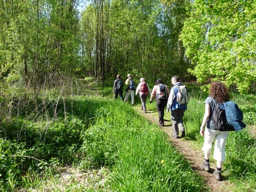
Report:
[[[202,151],[204,153],[210,153],[212,142],[215,140],[214,146],[214,159],[217,161],[225,161],[225,146],[229,131],[221,132],[218,130],[210,130],[205,128],[204,131],[204,144]]]

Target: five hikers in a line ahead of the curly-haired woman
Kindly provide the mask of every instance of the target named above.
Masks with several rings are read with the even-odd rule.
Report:
[[[125,99],[124,102],[127,102],[131,95],[131,103],[134,104],[134,94],[139,95],[141,99],[141,110],[146,113],[146,99],[148,95],[150,95],[150,103],[152,103],[155,98],[156,107],[159,115],[159,125],[164,126],[164,109],[167,105],[167,112],[171,112],[172,119],[172,127],[173,127],[173,135],[172,137],[177,139],[179,137],[179,130],[181,133],[181,137],[185,137],[185,130],[183,126],[182,118],[184,116],[184,112],[187,109],[187,105],[180,104],[177,102],[177,94],[178,87],[182,86],[180,77],[173,76],[172,84],[173,87],[168,90],[167,86],[163,83],[162,79],[157,79],[156,84],[151,92],[150,87],[145,82],[145,79],[140,78],[140,83],[135,88],[135,83],[131,74],[127,75],[127,79],[125,80]],[[114,81],[113,92],[115,93],[115,98],[120,96],[120,99],[123,100],[123,87],[124,87],[122,76],[120,74],[117,75],[116,80]]]

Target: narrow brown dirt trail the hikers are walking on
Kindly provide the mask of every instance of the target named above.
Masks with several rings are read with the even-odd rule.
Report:
[[[158,123],[158,117],[153,116],[156,112],[147,111],[143,113],[140,110],[140,107],[134,108],[139,114],[147,118],[153,123]],[[168,136],[169,140],[176,146],[177,150],[183,155],[183,157],[190,163],[191,168],[205,178],[205,184],[209,186],[210,191],[213,192],[231,192],[229,189],[232,186],[232,183],[229,181],[217,181],[213,175],[215,170],[215,163],[210,164],[210,171],[207,172],[200,167],[202,160],[204,159],[203,152],[201,147],[195,149],[191,144],[191,141],[185,140],[185,138],[174,139],[172,138],[172,125],[169,120],[164,120],[165,125],[163,127],[159,126]],[[224,178],[225,179],[225,178]]]

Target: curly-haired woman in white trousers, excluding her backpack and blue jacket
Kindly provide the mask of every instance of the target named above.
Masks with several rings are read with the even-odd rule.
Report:
[[[210,170],[210,153],[212,142],[215,140],[214,156],[217,161],[216,170],[214,175],[216,180],[222,180],[221,168],[225,161],[225,144],[229,131],[219,131],[211,122],[213,111],[216,107],[216,102],[226,102],[229,100],[228,88],[220,81],[214,81],[210,84],[210,94],[204,101],[205,113],[200,127],[200,134],[204,136],[204,144],[202,151],[204,152],[204,161],[201,167],[204,170]],[[206,127],[205,127],[206,125]],[[204,130],[205,127],[205,130]]]

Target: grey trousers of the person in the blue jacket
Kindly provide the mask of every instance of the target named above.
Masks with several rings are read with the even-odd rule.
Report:
[[[170,119],[172,119],[172,128],[173,128],[173,135],[178,136],[179,135],[179,129],[180,132],[185,131],[183,126],[183,116],[184,116],[185,110],[173,110],[170,113]]]

